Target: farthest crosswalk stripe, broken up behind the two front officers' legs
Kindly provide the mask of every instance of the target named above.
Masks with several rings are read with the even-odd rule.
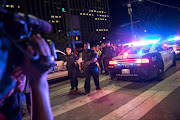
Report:
[[[109,78],[109,76],[103,77],[102,79],[100,79],[100,82],[101,82],[101,81],[104,81],[104,80],[107,80],[107,78]],[[94,81],[91,80],[91,85],[93,84],[93,82],[94,82]],[[78,87],[79,87],[79,88],[84,87],[84,81],[79,82]],[[66,84],[65,86],[61,86],[61,87],[59,87],[59,90],[50,92],[50,94],[49,94],[49,95],[50,95],[50,98],[51,98],[51,97],[55,97],[55,96],[57,96],[57,95],[65,94],[65,93],[69,92],[69,89],[70,89],[70,85],[69,85],[69,84]]]

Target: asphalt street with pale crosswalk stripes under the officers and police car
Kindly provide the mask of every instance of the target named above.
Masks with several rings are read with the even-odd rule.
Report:
[[[180,118],[180,61],[158,81],[110,80],[100,75],[101,90],[93,79],[91,93],[84,92],[84,78],[78,78],[79,93],[69,94],[69,80],[50,83],[50,100],[55,120],[175,120]],[[24,116],[23,120],[29,119]]]

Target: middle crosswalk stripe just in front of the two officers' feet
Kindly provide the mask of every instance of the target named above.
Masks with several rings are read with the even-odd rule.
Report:
[[[123,87],[125,87],[131,83],[132,82],[122,82],[119,86],[112,84],[112,85],[109,85],[109,86],[102,88],[102,90],[100,90],[100,91],[94,91],[94,92],[90,93],[89,95],[81,96],[81,97],[78,97],[76,99],[67,101],[63,104],[57,105],[57,106],[52,108],[53,116],[54,117],[58,116],[62,113],[65,113],[67,111],[70,111],[72,109],[80,107],[82,105],[85,105],[89,102],[92,102],[96,99],[99,99],[103,96],[106,96],[106,95],[108,95],[108,94],[110,94],[110,93],[112,93],[112,92],[114,92],[120,88],[123,88]]]

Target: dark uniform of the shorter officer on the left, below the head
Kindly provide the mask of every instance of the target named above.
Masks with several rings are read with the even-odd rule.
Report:
[[[78,86],[77,81],[77,60],[78,56],[76,54],[66,55],[64,58],[64,61],[67,61],[67,69],[68,69],[68,76],[70,78],[71,82],[71,88],[74,88]]]

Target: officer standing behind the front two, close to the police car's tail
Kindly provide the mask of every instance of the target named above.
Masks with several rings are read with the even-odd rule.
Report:
[[[108,64],[109,61],[114,57],[115,54],[115,50],[114,48],[110,45],[110,41],[106,42],[106,46],[103,48],[102,50],[102,54],[104,56],[104,70],[105,70],[105,74],[109,75],[108,72]]]

